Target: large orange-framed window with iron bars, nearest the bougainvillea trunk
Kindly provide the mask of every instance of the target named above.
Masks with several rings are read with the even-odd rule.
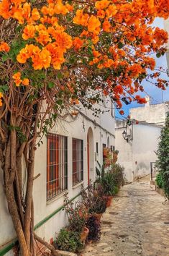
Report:
[[[47,200],[68,188],[68,138],[47,135]]]

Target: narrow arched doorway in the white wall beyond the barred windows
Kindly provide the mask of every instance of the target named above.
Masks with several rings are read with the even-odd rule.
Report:
[[[88,129],[87,135],[87,161],[88,161],[88,184],[90,179],[94,179],[93,165],[94,165],[94,150],[93,150],[93,131],[91,127]]]

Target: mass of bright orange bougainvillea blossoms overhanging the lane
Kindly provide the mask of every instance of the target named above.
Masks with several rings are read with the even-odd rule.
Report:
[[[78,64],[86,63],[106,75],[104,94],[111,94],[120,108],[121,98],[130,103],[129,95],[144,91],[140,83],[147,69],[155,69],[155,59],[149,55],[153,51],[158,56],[165,53],[168,34],[150,25],[155,17],[168,18],[167,2],[93,0],[70,4],[48,0],[37,7],[25,0],[2,0],[0,16],[22,25],[26,43],[17,54],[19,64],[29,64],[35,70],[58,70],[70,59],[77,59]],[[9,52],[9,47],[8,42],[0,43],[0,51]],[[14,81],[17,86],[29,84],[16,74]],[[166,85],[164,80],[156,83],[159,88]]]

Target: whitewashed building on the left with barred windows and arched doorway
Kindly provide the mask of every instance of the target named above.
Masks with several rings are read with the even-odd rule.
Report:
[[[104,101],[101,109],[111,111],[99,117],[83,111],[67,116],[64,121],[58,120],[37,149],[35,176],[38,178],[33,191],[35,231],[48,242],[67,223],[62,210],[65,192],[70,200],[77,200],[81,184],[86,187],[90,179],[96,179],[96,161],[103,162],[103,147],[115,145],[113,104]],[[0,255],[14,255],[16,234],[5,200],[2,171],[0,174]]]

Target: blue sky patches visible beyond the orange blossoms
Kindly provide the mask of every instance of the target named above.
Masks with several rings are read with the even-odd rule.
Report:
[[[154,25],[156,27],[160,27],[163,28],[163,20],[157,18],[154,22]],[[166,56],[162,56],[160,58],[156,58],[155,57],[155,61],[156,61],[156,67],[163,67],[163,69],[167,69],[167,61],[166,61]],[[167,74],[161,74],[160,76],[161,78],[165,79],[165,80],[169,80],[169,77],[167,76]],[[156,88],[155,85],[150,84],[150,82],[142,82],[142,85],[145,88],[145,92],[151,96],[151,103],[153,104],[157,104],[157,103],[162,103],[163,101],[169,101],[169,87],[167,88],[167,90],[162,91],[159,88]],[[145,93],[142,93],[142,95],[146,95]],[[129,108],[137,108],[140,106],[145,106],[137,104],[135,102],[132,102],[129,105],[125,105],[123,106],[123,110],[124,110],[124,117],[128,116],[129,114]],[[119,118],[123,118],[123,116],[121,116],[119,114],[119,111],[116,110],[116,116]]]

